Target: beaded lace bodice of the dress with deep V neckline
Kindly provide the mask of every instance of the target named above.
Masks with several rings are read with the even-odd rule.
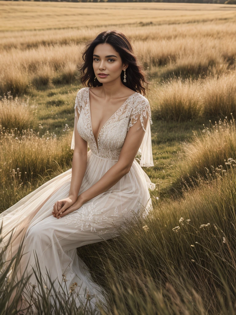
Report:
[[[129,128],[133,126],[138,119],[140,119],[142,127],[146,133],[148,127],[150,129],[151,110],[149,101],[138,92],[135,92],[121,105],[121,107],[107,120],[98,135],[98,146],[95,141],[89,104],[89,87],[82,88],[78,91],[75,101],[75,128],[77,126],[78,133],[81,138],[87,141],[88,146],[93,154],[108,160],[118,160],[121,148],[126,138],[126,133]],[[76,114],[76,108],[79,113],[79,118]],[[143,117],[147,118],[149,114],[149,121],[146,130],[143,124]],[[146,136],[146,135],[145,135]],[[147,137],[144,136],[145,141]],[[142,143],[139,153],[142,153],[144,142]],[[149,144],[150,145],[150,144]],[[71,142],[71,149],[74,149],[74,133]],[[150,151],[150,150],[149,150]],[[144,163],[145,164],[145,163]],[[150,165],[153,166],[152,155]]]

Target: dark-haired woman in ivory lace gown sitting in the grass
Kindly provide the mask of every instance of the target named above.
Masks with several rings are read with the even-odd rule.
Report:
[[[153,166],[152,120],[149,102],[141,94],[146,81],[124,34],[100,33],[82,56],[80,79],[87,86],[75,101],[72,168],[5,210],[0,223],[3,245],[14,229],[7,258],[25,237],[19,275],[27,262],[27,272],[32,272],[36,253],[43,276],[48,270],[50,278],[58,280],[57,290],[63,280],[68,290],[76,283],[75,291],[89,292],[95,309],[96,298],[103,299],[101,288],[76,248],[117,236],[115,225],[133,211],[143,215],[151,209],[149,189],[155,184],[141,166]],[[37,285],[34,274],[29,282]]]

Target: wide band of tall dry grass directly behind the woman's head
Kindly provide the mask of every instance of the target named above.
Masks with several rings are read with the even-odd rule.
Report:
[[[221,75],[235,70],[236,45],[232,42],[232,31],[226,31],[226,26],[219,27],[218,23],[203,23],[195,29],[192,24],[148,25],[138,28],[140,35],[130,27],[127,36],[150,77],[166,80],[173,75],[192,78]],[[232,22],[227,25],[235,28]],[[157,31],[159,34],[155,36]],[[25,32],[25,46],[20,39],[14,41],[19,43],[15,45],[9,37],[3,38],[0,95],[8,91],[21,95],[30,93],[32,88],[48,89],[54,84],[76,82],[84,43],[96,36],[97,29],[90,29],[88,33],[87,29],[70,30],[71,40],[65,40],[67,31],[57,34],[54,30],[42,31],[42,34],[44,32],[46,42],[39,31],[35,33],[38,40]],[[13,34],[14,38],[16,35]]]

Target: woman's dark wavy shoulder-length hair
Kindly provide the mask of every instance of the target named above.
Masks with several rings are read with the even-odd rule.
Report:
[[[97,78],[94,81],[93,50],[98,44],[104,43],[110,44],[120,54],[122,63],[127,62],[129,64],[126,69],[126,82],[123,82],[123,70],[121,72],[121,82],[133,91],[145,96],[145,89],[147,88],[143,86],[143,83],[150,83],[145,81],[145,72],[138,63],[128,38],[120,31],[103,31],[95,39],[87,41],[82,52],[84,63],[78,69],[79,76],[76,78],[81,80],[83,86],[95,87],[102,85]]]

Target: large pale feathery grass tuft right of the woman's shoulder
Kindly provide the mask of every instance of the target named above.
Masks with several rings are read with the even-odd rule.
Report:
[[[236,72],[201,79],[171,77],[152,91],[156,119],[183,122],[236,115]]]

